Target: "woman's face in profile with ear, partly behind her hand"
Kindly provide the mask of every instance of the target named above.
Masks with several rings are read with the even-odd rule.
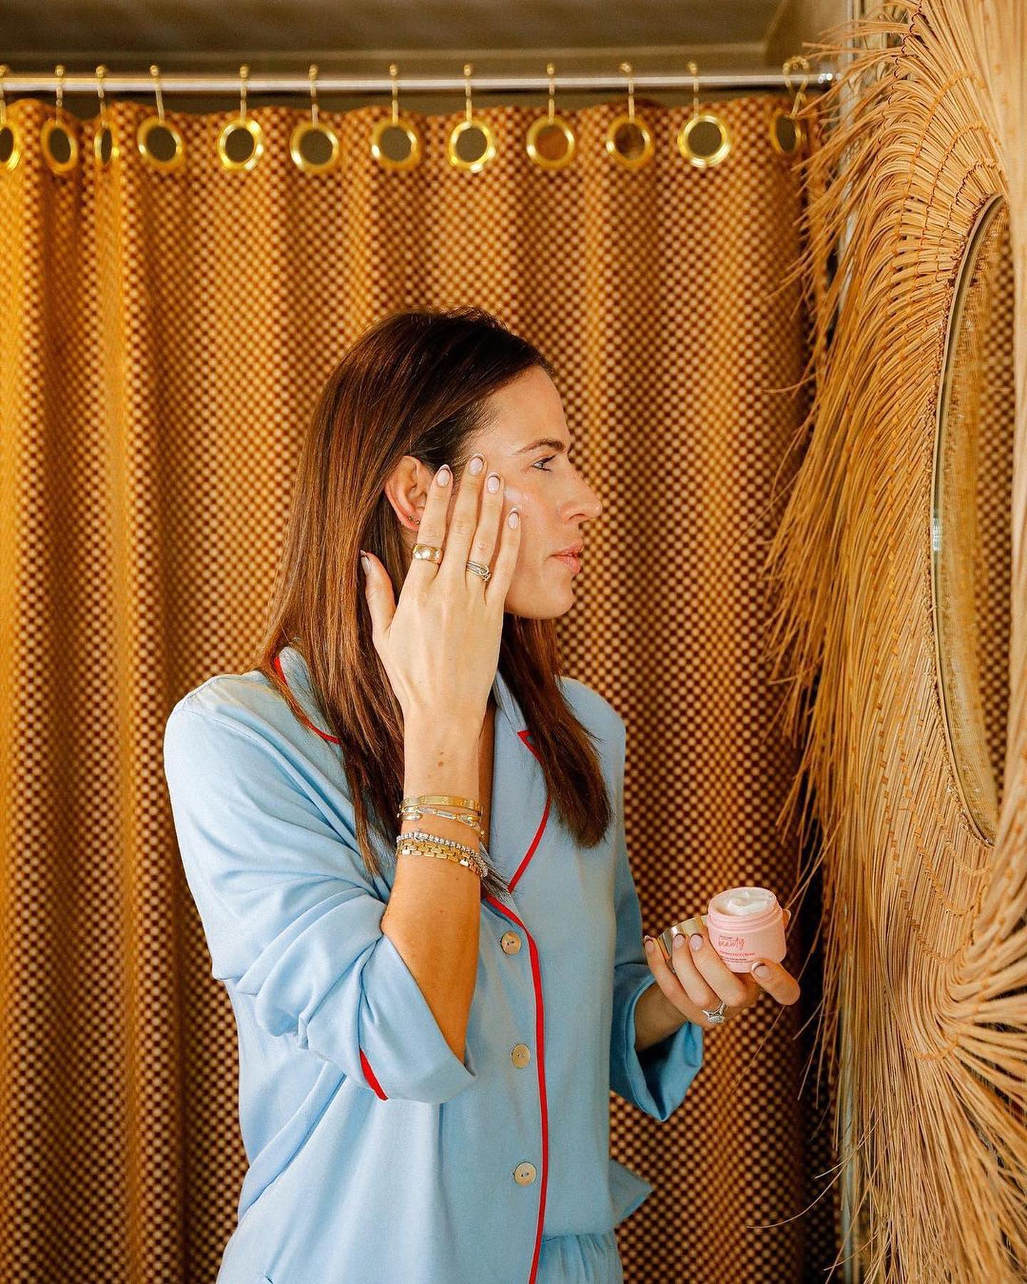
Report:
[[[480,452],[483,476],[498,473],[503,479],[503,523],[514,506],[521,515],[517,566],[505,609],[530,619],[564,615],[574,605],[576,570],[555,555],[569,544],[587,546],[585,523],[598,516],[602,503],[567,458],[571,443],[564,407],[544,370],[533,366],[511,380],[492,394],[488,410],[488,426],[471,438],[467,458]],[[404,456],[386,487],[408,550],[417,541],[416,517],[430,483],[431,471]]]

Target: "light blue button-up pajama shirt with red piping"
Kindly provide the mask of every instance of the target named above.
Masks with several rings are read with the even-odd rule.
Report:
[[[496,677],[489,856],[510,895],[481,899],[461,1061],[381,931],[394,849],[372,831],[372,878],[306,661],[290,646],[276,665],[308,725],[253,670],[208,678],[164,731],[181,859],[239,1036],[248,1170],[218,1284],[621,1279],[614,1228],[653,1188],[610,1156],[610,1089],[662,1121],[702,1064],[692,1022],[634,1049],[656,982],[624,838],[624,720],[560,679],[615,805],[583,847]]]

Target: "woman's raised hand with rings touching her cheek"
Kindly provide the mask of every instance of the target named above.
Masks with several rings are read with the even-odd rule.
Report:
[[[496,679],[503,603],[520,548],[520,519],[503,516],[503,480],[487,483],[481,460],[463,470],[456,497],[447,465],[429,487],[417,541],[442,547],[442,561],[412,557],[397,603],[384,565],[366,553],[365,592],[375,650],[381,657],[403,718],[445,719],[480,728]],[[469,561],[492,568],[488,583]]]

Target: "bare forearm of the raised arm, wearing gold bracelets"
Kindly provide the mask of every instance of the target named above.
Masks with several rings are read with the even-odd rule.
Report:
[[[479,796],[478,737],[470,727],[410,723],[404,736],[403,796]],[[478,836],[460,820],[424,815],[403,820],[401,833],[425,829],[474,847]],[[403,854],[381,930],[395,945],[439,1023],[463,1061],[467,1017],[478,976],[481,883],[472,869],[452,860]]]

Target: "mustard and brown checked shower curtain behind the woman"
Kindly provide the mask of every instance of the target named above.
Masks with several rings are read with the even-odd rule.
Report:
[[[162,729],[259,636],[318,386],[386,311],[478,303],[558,370],[606,505],[561,628],[570,672],[628,722],[646,928],[728,883],[792,894],[774,820],[796,759],[760,575],[806,395],[801,300],[773,297],[802,200],[768,140],[784,101],[721,104],[733,150],[709,172],[673,148],[687,109],[644,100],[657,149],[637,173],[602,152],[620,101],[569,114],[580,154],[561,173],[525,158],[526,108],[484,109],[499,154],[478,176],[445,162],[460,112],[420,119],[425,159],[402,176],[368,154],[379,109],[322,112],[344,153],[327,177],[294,168],[286,108],[250,113],[268,143],[250,175],[216,159],[227,113],[168,112],[187,163],[160,175],[134,143],[150,107],[116,103],[118,164],[94,169],[86,122],[86,163],[60,178],[36,143],[53,108],[10,108],[27,143],[0,177],[4,1279],[217,1272],[245,1167],[235,1028]],[[793,972],[815,908],[793,919]],[[798,1216],[829,1166],[795,1037],[815,962],[798,1005],[764,996],[707,1035],[666,1125],[612,1098],[614,1153],[657,1186],[620,1229],[629,1281],[795,1284],[833,1258],[832,1197]]]

